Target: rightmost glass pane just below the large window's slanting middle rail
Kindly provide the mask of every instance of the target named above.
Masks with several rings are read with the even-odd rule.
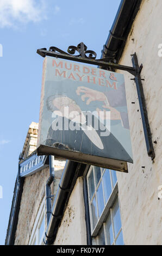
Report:
[[[116,202],[113,207],[113,221],[114,221],[114,231],[115,231],[115,237],[116,237],[121,228],[121,218],[120,218],[120,209],[119,209],[118,199],[116,199]]]

